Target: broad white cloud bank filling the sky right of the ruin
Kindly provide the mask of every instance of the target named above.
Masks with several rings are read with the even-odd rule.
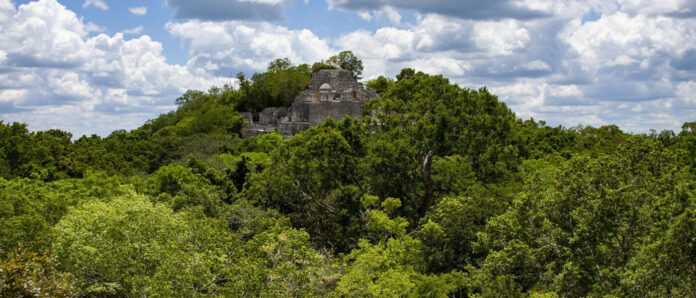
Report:
[[[403,67],[443,74],[462,86],[488,86],[518,116],[553,125],[646,132],[693,121],[696,20],[674,16],[679,5],[631,13],[605,2],[526,2],[549,16],[427,14],[401,28],[344,34],[334,45],[362,58],[368,79]]]

